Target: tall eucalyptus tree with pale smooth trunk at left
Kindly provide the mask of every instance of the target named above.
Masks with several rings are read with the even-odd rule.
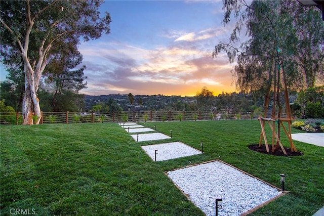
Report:
[[[38,123],[41,109],[37,91],[47,58],[58,41],[97,39],[110,32],[110,16],[100,17],[103,1],[2,1],[1,56],[21,56],[25,74],[23,124]],[[32,115],[37,116],[33,122]],[[35,118],[34,118],[35,119]]]

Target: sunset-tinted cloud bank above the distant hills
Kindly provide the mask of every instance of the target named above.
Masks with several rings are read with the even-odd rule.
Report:
[[[215,94],[234,91],[227,57],[211,57],[215,39],[224,31],[166,31],[165,37],[176,39],[150,49],[116,41],[83,45],[88,89],[82,93],[192,96],[204,86]]]

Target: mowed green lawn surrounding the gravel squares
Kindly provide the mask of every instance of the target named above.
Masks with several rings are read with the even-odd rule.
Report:
[[[312,215],[324,205],[324,148],[295,141],[304,156],[251,151],[257,120],[146,122],[173,138],[135,142],[115,123],[1,127],[1,215],[204,215],[165,171],[213,159],[291,191],[251,215]],[[298,132],[293,129],[293,132]],[[269,133],[269,128],[267,128]],[[269,133],[269,138],[271,137]],[[142,145],[181,141],[204,154],[153,162]],[[289,146],[287,138],[282,143]]]

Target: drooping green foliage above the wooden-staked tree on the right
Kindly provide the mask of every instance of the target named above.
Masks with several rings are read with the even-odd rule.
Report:
[[[230,62],[237,58],[233,76],[239,90],[268,91],[283,79],[293,88],[312,87],[323,71],[324,23],[314,8],[295,1],[224,1],[224,24],[236,23],[227,44],[215,46],[213,56],[225,52]],[[247,41],[239,43],[241,31]],[[276,74],[277,66],[284,72]]]

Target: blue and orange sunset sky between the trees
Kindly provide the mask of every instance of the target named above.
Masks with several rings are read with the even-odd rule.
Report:
[[[222,23],[222,1],[105,1],[110,34],[82,41],[87,95],[194,96],[234,92],[233,65],[212,58],[233,29]],[[1,79],[4,69],[0,66]]]

